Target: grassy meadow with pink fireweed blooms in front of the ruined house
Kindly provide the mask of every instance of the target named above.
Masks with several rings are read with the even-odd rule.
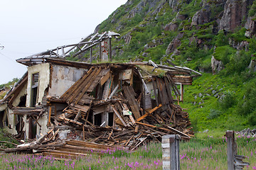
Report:
[[[236,136],[238,154],[245,155],[245,162],[256,169],[256,138]],[[206,139],[193,138],[180,144],[181,169],[227,169],[227,143],[225,137]],[[0,156],[0,169],[162,169],[161,144],[151,143],[135,152],[120,148],[102,152],[98,157],[93,152],[86,157],[58,161],[54,157],[6,154]]]

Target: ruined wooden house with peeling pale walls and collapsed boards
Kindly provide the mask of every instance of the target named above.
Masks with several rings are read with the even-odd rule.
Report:
[[[28,72],[1,101],[0,127],[19,139],[44,135],[41,143],[75,139],[134,149],[162,135],[193,135],[188,113],[175,104],[200,75],[192,69],[53,57],[17,62]]]

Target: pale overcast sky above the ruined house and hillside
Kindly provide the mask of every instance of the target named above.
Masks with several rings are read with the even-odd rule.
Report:
[[[0,4],[0,84],[21,78],[16,59],[79,42],[127,0],[6,0]]]

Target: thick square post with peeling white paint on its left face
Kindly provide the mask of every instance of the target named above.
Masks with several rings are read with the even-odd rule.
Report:
[[[180,135],[165,135],[162,137],[163,169],[179,170],[179,141]]]

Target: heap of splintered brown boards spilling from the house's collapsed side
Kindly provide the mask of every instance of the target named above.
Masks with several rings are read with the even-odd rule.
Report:
[[[57,119],[80,130],[80,139],[109,146],[136,149],[168,134],[189,140],[191,122],[188,113],[174,104],[173,96],[181,93],[173,77],[151,76],[144,81],[139,69],[91,68],[63,94],[61,99],[69,106]],[[150,99],[145,100],[146,94]]]

